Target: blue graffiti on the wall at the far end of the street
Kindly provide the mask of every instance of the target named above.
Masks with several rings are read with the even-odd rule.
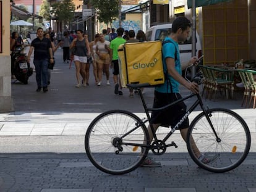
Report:
[[[122,28],[124,28],[124,30],[134,30],[135,33],[137,33],[137,31],[139,31],[141,28],[141,21],[140,20],[123,20],[122,21]],[[118,20],[114,20],[112,23],[111,23],[111,27],[112,28],[119,28],[119,21]],[[104,23],[100,23],[100,26],[99,26],[99,33],[102,33],[102,30],[103,29],[106,29],[106,25]]]

